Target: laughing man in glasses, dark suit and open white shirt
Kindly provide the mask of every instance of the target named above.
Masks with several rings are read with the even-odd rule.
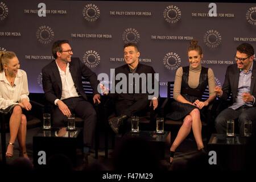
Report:
[[[55,60],[42,69],[42,82],[46,100],[54,106],[53,126],[63,126],[71,113],[84,119],[84,153],[88,154],[97,118],[82,88],[82,76],[90,81],[93,88],[93,102],[100,103],[97,76],[79,58],[72,58],[73,50],[68,40],[53,43],[52,54]]]

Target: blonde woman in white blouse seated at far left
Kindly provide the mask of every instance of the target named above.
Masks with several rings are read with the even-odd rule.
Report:
[[[19,60],[14,52],[0,51],[0,109],[10,113],[10,140],[6,157],[13,157],[13,147],[18,138],[20,152],[28,158],[26,151],[27,119],[22,109],[31,110],[28,98],[27,74],[19,69]]]

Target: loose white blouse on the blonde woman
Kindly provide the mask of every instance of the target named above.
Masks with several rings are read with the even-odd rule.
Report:
[[[22,69],[18,69],[14,80],[14,86],[11,86],[7,81],[5,71],[0,72],[0,109],[6,109],[7,107],[18,104],[23,98],[27,98],[28,101],[28,84],[27,73]]]

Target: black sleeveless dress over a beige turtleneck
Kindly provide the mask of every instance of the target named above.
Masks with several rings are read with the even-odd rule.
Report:
[[[188,85],[188,77],[189,77],[189,67],[183,67],[183,75],[181,82],[181,91],[180,94],[189,102],[195,102],[196,100],[201,100],[201,97],[204,93],[205,88],[208,85],[208,68],[202,67],[199,79],[199,85],[197,88],[190,88]],[[196,109],[196,106],[191,104],[185,104],[177,101],[172,101],[170,104],[171,113],[167,114],[166,117],[172,120],[180,120],[183,119],[186,115],[188,115],[193,109]],[[206,108],[200,110],[201,117],[204,117],[204,110]],[[202,115],[203,114],[203,115]]]

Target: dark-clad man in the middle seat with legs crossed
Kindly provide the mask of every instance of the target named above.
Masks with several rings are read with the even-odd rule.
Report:
[[[121,78],[120,81],[115,81],[115,84],[112,84],[112,86],[115,86],[115,88],[112,88],[115,89],[115,93],[109,94],[110,97],[114,98],[115,111],[117,114],[117,117],[109,119],[109,124],[115,133],[119,132],[120,125],[122,125],[123,121],[126,121],[127,118],[138,114],[148,106],[152,105],[154,109],[158,106],[158,90],[156,97],[148,97],[152,94],[148,92],[148,84],[152,84],[151,88],[154,88],[154,69],[148,65],[139,63],[140,52],[137,44],[126,44],[123,53],[126,64],[115,68],[114,78],[118,79],[119,76],[123,76],[125,79]],[[151,74],[152,77],[142,81],[142,77],[145,76],[147,78],[148,74]],[[139,82],[136,83],[136,81],[134,81],[136,78],[131,78],[132,76],[137,78],[141,76],[141,78]]]

